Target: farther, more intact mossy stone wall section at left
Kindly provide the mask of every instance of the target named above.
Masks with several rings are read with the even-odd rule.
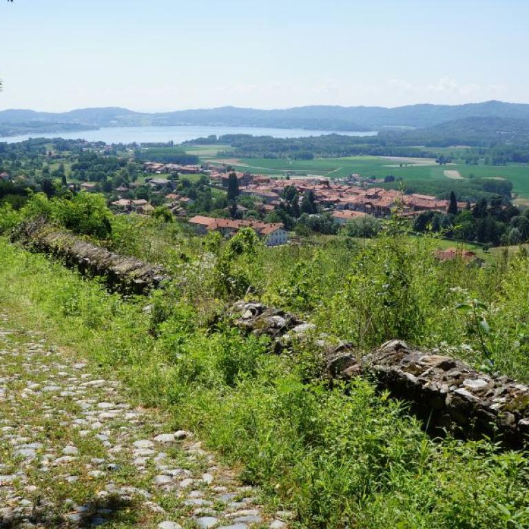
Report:
[[[42,220],[19,226],[11,240],[22,242],[32,251],[59,258],[82,273],[105,276],[110,287],[123,293],[145,293],[169,279],[163,267],[112,253],[72,234],[58,231]]]

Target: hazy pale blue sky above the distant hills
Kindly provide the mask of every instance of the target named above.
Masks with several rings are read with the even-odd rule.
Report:
[[[0,0],[0,109],[529,103],[528,0]]]

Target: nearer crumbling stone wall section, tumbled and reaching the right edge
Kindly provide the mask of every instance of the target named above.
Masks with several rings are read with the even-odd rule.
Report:
[[[452,357],[422,351],[400,340],[386,342],[367,355],[351,344],[315,334],[313,324],[260,303],[237,302],[231,307],[236,326],[247,333],[266,334],[280,353],[295,336],[321,347],[331,380],[363,376],[394,397],[411,403],[434,435],[444,428],[466,437],[484,435],[508,446],[529,440],[529,386],[506,376],[476,371]]]

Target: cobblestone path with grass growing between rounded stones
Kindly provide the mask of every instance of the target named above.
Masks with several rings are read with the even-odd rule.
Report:
[[[287,527],[116,380],[0,315],[0,528]]]

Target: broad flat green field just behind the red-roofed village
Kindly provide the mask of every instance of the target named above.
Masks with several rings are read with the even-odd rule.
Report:
[[[205,151],[207,152],[207,151]],[[453,163],[437,165],[435,160],[424,158],[381,158],[377,156],[351,156],[348,158],[318,158],[315,160],[286,160],[278,158],[218,158],[200,155],[211,163],[228,163],[239,171],[281,176],[289,172],[294,176],[318,175],[344,178],[353,173],[364,177],[384,178],[388,174],[404,180],[444,180],[445,171],[457,171],[461,178],[505,178],[512,182],[513,191],[519,198],[529,198],[528,165],[466,165]],[[457,181],[457,180],[454,180]],[[461,180],[459,180],[461,181]]]

